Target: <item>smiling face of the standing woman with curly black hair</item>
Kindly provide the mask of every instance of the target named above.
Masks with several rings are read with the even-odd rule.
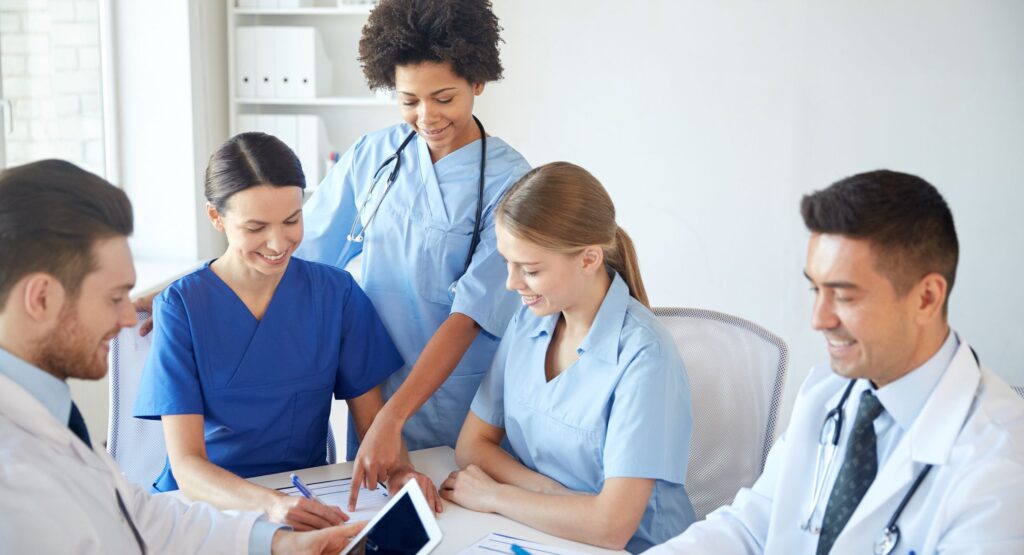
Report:
[[[480,137],[473,121],[473,99],[483,84],[456,75],[447,62],[398,66],[395,92],[401,118],[427,142],[434,162]]]

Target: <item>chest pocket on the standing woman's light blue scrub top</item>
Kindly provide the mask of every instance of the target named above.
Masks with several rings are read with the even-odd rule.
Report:
[[[473,229],[427,225],[424,237],[426,241],[417,264],[417,287],[428,301],[451,306],[449,290],[465,267]]]

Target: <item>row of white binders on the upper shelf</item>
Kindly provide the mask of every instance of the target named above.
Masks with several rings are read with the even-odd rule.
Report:
[[[331,61],[313,27],[240,27],[236,90],[241,97],[315,98],[331,94]]]

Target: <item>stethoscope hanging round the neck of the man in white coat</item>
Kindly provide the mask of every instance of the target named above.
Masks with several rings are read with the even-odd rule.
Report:
[[[981,361],[978,359],[978,353],[975,352],[974,347],[971,348],[971,354],[974,355],[975,364],[980,366]],[[824,495],[825,480],[828,478],[828,473],[835,462],[836,450],[839,446],[839,436],[843,431],[844,408],[856,383],[856,378],[850,380],[850,383],[847,384],[846,389],[843,391],[843,395],[839,398],[839,402],[836,403],[836,407],[831,411],[825,414],[825,421],[821,424],[821,431],[818,433],[818,452],[814,463],[814,489],[811,493],[811,506],[808,511],[807,520],[800,525],[800,528],[804,531],[815,535],[821,532],[821,527],[812,526],[811,521],[814,519],[814,513],[821,502],[821,496]],[[889,555],[896,549],[900,537],[900,529],[896,522],[899,521],[903,510],[906,509],[913,495],[918,493],[918,488],[921,487],[922,482],[928,477],[928,473],[932,471],[933,466],[935,465],[926,465],[922,469],[910,485],[910,489],[907,490],[906,495],[903,496],[903,500],[900,501],[899,506],[896,507],[896,511],[889,517],[889,522],[883,528],[882,536],[874,541],[874,555]]]

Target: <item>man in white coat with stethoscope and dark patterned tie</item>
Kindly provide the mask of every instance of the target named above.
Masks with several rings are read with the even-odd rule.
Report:
[[[946,322],[945,201],[876,171],[802,213],[831,364],[804,382],[754,486],[647,553],[1024,553],[1024,400]]]

